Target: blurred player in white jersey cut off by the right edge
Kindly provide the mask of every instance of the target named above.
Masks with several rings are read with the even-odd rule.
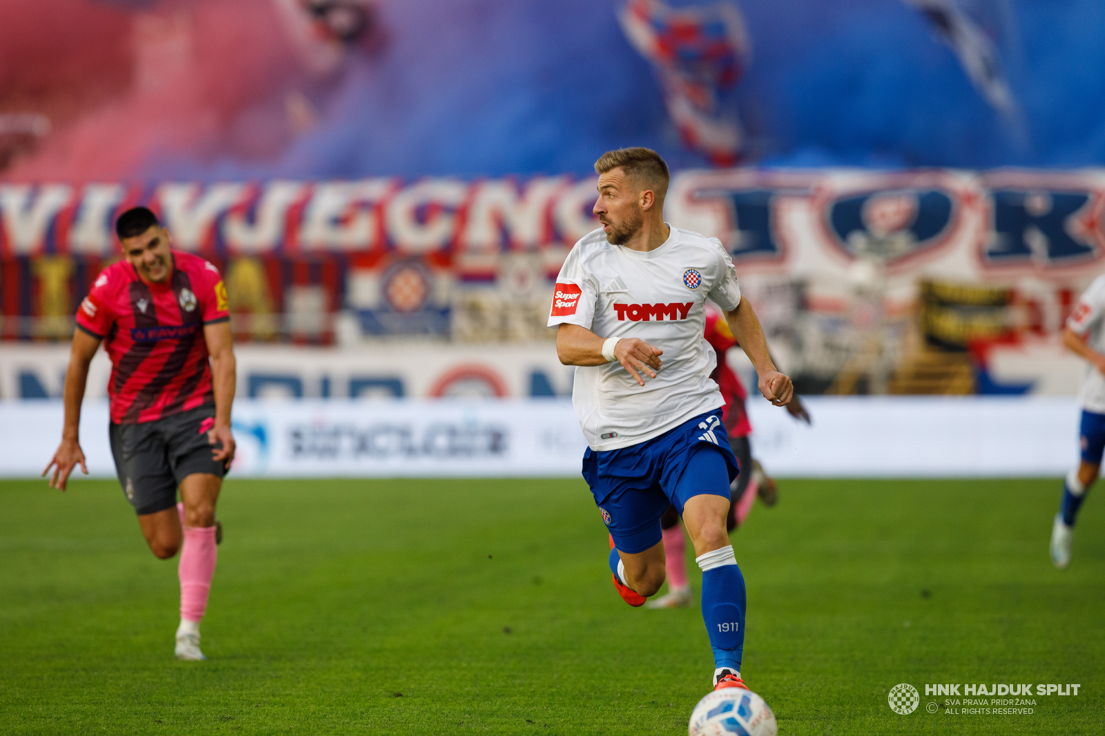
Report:
[[[1063,344],[1090,365],[1078,395],[1082,462],[1066,474],[1063,502],[1051,528],[1051,561],[1059,568],[1071,564],[1074,521],[1097,480],[1105,450],[1105,275],[1097,276],[1078,298],[1063,329]]]

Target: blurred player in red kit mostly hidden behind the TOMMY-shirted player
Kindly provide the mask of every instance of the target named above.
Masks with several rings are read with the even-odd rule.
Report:
[[[729,515],[726,518],[726,527],[733,532],[747,518],[753,502],[757,497],[764,502],[765,506],[774,506],[779,500],[779,495],[775,480],[765,473],[759,461],[753,458],[751,445],[748,441],[753,433],[753,425],[748,421],[748,411],[745,408],[748,391],[740,382],[740,377],[729,367],[725,358],[729,348],[737,345],[737,338],[733,336],[733,330],[729,329],[724,315],[714,308],[706,309],[706,341],[717,354],[717,368],[714,369],[711,378],[717,383],[722,391],[722,398],[725,399],[722,423],[728,430],[729,445],[740,465],[740,474],[733,481],[733,501]],[[804,421],[807,424],[810,423],[810,416],[797,393],[787,403],[787,411],[794,419]],[[680,515],[675,512],[675,506],[669,506],[660,519],[660,525],[664,535],[667,592],[650,600],[645,607],[684,608],[692,606],[694,598],[691,595],[691,582],[687,580],[686,540],[683,536],[683,528],[680,526]]]

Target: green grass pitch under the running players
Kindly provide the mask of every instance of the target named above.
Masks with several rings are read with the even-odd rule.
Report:
[[[733,535],[743,671],[780,734],[1102,733],[1101,498],[1057,571],[1057,480],[780,495]],[[200,663],[172,659],[177,562],[117,484],[9,481],[0,503],[3,734],[684,734],[709,690],[698,610],[618,598],[579,480],[231,480]],[[946,698],[925,683],[1021,682],[1082,687],[926,712]]]

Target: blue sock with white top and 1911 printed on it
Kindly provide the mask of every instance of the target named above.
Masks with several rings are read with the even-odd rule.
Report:
[[[745,650],[745,576],[733,547],[723,547],[696,560],[702,572],[702,618],[706,622],[714,664],[740,672]]]

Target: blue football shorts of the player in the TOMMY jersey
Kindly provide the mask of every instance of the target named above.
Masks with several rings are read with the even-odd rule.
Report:
[[[683,514],[692,496],[729,497],[737,458],[722,424],[722,410],[688,419],[645,442],[583,453],[583,479],[621,551],[635,554],[662,537],[669,504]]]

